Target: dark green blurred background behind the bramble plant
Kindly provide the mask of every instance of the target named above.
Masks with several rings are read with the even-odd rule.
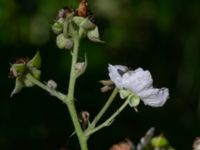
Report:
[[[9,63],[18,57],[42,55],[42,81],[54,79],[66,92],[70,52],[59,50],[51,24],[63,6],[78,0],[0,1],[0,149],[78,149],[67,108],[38,87],[9,98],[14,81]],[[91,118],[105,103],[98,83],[108,79],[107,66],[123,64],[151,71],[156,87],[169,87],[170,99],[162,108],[127,108],[111,127],[92,136],[90,149],[102,150],[126,137],[137,143],[152,126],[177,150],[192,149],[200,136],[200,1],[197,0],[91,0],[105,44],[81,43],[80,60],[88,55],[87,72],[78,79],[77,109]],[[121,104],[116,99],[107,115]]]

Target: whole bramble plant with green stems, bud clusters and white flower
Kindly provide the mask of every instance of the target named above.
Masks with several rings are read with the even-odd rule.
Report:
[[[130,70],[126,66],[109,64],[108,71],[110,79],[101,80],[100,82],[103,85],[101,91],[107,92],[113,90],[112,94],[91,122],[87,111],[83,111],[78,115],[74,104],[74,90],[77,78],[87,68],[86,55],[84,62],[78,61],[80,41],[82,38],[88,37],[92,42],[103,43],[100,40],[98,26],[95,24],[94,16],[88,10],[87,5],[87,1],[82,0],[77,9],[65,7],[59,10],[57,18],[52,25],[52,30],[57,35],[57,47],[66,50],[66,53],[71,54],[72,57],[67,94],[57,91],[57,83],[53,80],[49,80],[47,83],[40,81],[41,57],[39,51],[30,60],[27,58],[18,59],[15,63],[11,64],[10,68],[10,77],[16,78],[15,88],[11,96],[20,92],[22,88],[37,85],[66,104],[81,150],[88,150],[87,141],[91,135],[104,127],[110,126],[127,106],[137,111],[137,107],[142,101],[145,105],[161,107],[169,98],[167,88],[158,89],[153,87],[153,79],[148,70],[143,70],[142,68]],[[104,122],[99,123],[118,93],[120,98],[124,100],[124,103]],[[148,139],[148,142],[150,141],[150,138],[146,139]],[[167,140],[163,136],[152,139],[151,143],[157,149],[163,145],[168,145]],[[143,149],[144,144],[138,147]],[[139,148],[137,149],[139,150]]]

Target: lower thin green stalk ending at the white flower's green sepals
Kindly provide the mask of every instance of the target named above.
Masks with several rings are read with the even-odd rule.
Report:
[[[122,110],[124,110],[124,108],[129,104],[129,100],[126,100],[122,106],[117,109],[117,111],[110,117],[108,118],[105,122],[103,122],[102,124],[100,124],[99,126],[97,126],[96,128],[94,128],[93,130],[89,130],[88,132],[86,132],[86,136],[90,136],[91,134],[94,134],[95,132],[99,131],[100,129],[109,126],[114,119],[122,112]]]

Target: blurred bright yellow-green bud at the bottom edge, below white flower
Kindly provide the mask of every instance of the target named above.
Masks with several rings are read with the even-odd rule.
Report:
[[[151,145],[155,148],[162,148],[169,145],[167,139],[163,135],[152,138]]]

